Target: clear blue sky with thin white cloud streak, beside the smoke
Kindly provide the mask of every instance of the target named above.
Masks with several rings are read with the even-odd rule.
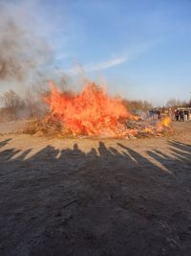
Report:
[[[104,77],[109,92],[155,105],[191,97],[191,1],[34,2],[38,32],[55,54],[49,70],[77,79],[83,69]]]

